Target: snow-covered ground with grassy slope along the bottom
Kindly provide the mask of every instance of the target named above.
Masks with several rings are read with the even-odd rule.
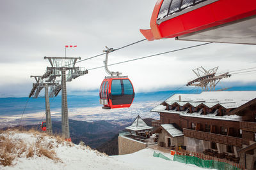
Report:
[[[3,145],[8,140],[9,142]],[[153,157],[154,150],[150,148],[128,155],[109,157],[90,147],[74,145],[38,132],[1,132],[0,162],[3,160],[1,154],[6,152],[4,147],[10,143],[17,144],[9,151],[9,155],[15,159],[12,166],[4,167],[0,163],[0,169],[200,169],[196,166]],[[29,148],[32,148],[30,152],[33,153],[29,153]],[[43,154],[38,148],[47,149],[52,153],[53,159],[45,157],[47,154]],[[163,154],[172,158],[168,153]]]

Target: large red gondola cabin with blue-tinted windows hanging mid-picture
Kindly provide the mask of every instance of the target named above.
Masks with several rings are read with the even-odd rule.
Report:
[[[134,99],[129,78],[105,78],[100,85],[100,104],[104,109],[128,108]]]

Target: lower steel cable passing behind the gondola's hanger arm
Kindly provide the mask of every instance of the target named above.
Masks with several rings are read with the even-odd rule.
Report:
[[[130,61],[134,61],[134,60],[146,59],[146,58],[149,58],[149,57],[154,57],[154,56],[162,55],[162,54],[165,54],[165,53],[178,52],[178,51],[181,51],[181,50],[186,50],[186,49],[189,49],[189,48],[194,48],[194,47],[196,47],[196,46],[208,45],[208,44],[211,44],[211,43],[212,43],[212,42],[210,42],[210,43],[204,43],[204,44],[200,44],[200,45],[188,46],[188,47],[185,47],[185,48],[179,48],[179,49],[177,49],[177,50],[172,50],[172,51],[163,52],[163,53],[156,53],[156,54],[148,55],[148,56],[145,56],[145,57],[139,57],[139,58],[136,58],[136,59],[125,60],[125,61],[122,61],[122,62],[116,62],[116,63],[113,63],[113,64],[108,64],[108,66],[113,66],[113,65],[116,65],[116,64],[122,64],[122,63],[124,63],[124,62],[130,62]],[[102,68],[102,67],[104,67],[104,66],[94,67],[94,68],[92,68],[92,69],[99,69],[99,68]],[[88,69],[88,70],[92,70],[92,69]]]

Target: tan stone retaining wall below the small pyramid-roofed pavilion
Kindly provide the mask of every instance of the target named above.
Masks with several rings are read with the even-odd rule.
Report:
[[[147,148],[147,143],[136,141],[125,136],[118,136],[118,155],[134,153]]]

